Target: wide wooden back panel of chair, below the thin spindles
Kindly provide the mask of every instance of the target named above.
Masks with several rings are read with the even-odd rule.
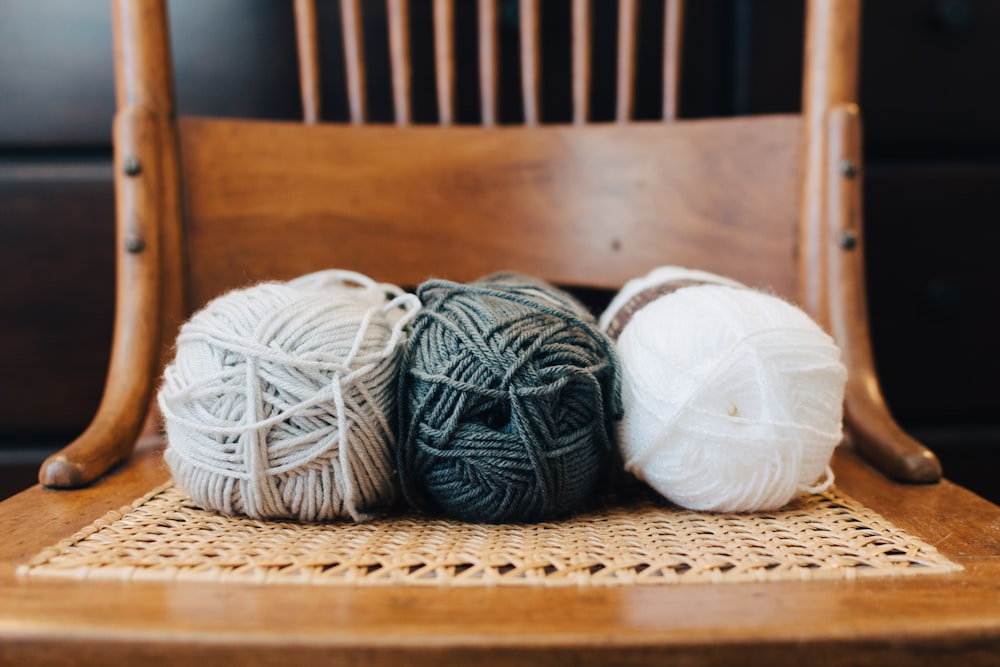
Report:
[[[194,307],[331,266],[411,286],[513,269],[616,289],[673,263],[794,296],[795,116],[180,129]]]

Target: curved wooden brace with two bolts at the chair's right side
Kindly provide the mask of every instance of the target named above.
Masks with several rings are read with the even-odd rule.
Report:
[[[845,421],[849,437],[883,473],[903,482],[937,482],[941,464],[896,423],[879,388],[868,329],[861,218],[861,118],[854,104],[828,117],[827,268],[829,317],[844,350],[849,379]]]

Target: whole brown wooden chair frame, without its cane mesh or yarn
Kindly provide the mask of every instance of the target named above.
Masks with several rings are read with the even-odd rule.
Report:
[[[665,3],[663,120],[630,119],[637,3],[621,0],[617,119],[587,122],[591,27],[587,0],[574,0],[573,122],[547,125],[539,3],[521,0],[525,122],[514,127],[497,122],[496,0],[478,3],[480,126],[454,123],[450,1],[434,3],[440,123],[429,126],[411,122],[408,3],[388,0],[396,123],[387,126],[365,122],[367,3],[340,3],[351,119],[337,124],[321,122],[312,0],[295,0],[302,123],[177,118],[164,0],[114,0],[113,355],[92,425],[45,463],[41,486],[0,505],[0,662],[995,664],[1000,508],[938,481],[937,460],[896,425],[873,370],[860,2],[808,0],[801,114],[697,121],[675,118],[683,3]],[[16,575],[166,478],[148,417],[157,377],[179,323],[229,288],[330,267],[408,286],[515,268],[610,291],[661,264],[768,287],[832,331],[850,371],[838,485],[963,573],[474,594]]]

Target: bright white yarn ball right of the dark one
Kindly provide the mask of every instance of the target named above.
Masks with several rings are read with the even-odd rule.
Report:
[[[602,314],[622,364],[627,470],[695,510],[768,511],[833,482],[847,371],[805,312],[704,271],[661,267]]]

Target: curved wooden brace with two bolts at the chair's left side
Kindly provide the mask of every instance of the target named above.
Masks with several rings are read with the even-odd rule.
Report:
[[[157,123],[126,109],[115,119],[118,278],[111,363],[90,426],[50,456],[39,471],[45,486],[76,488],[123,461],[142,430],[159,364],[161,267],[157,216],[161,165]]]

